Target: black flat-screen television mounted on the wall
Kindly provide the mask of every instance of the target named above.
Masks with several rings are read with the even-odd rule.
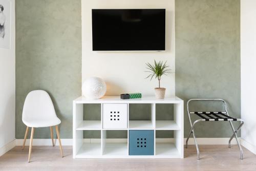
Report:
[[[165,9],[92,9],[93,51],[164,51]]]

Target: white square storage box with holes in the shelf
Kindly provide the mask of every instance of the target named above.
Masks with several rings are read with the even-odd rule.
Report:
[[[103,129],[127,128],[127,104],[103,104]]]

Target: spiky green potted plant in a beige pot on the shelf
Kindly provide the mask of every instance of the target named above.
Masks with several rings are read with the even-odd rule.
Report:
[[[156,62],[156,60],[155,60],[155,63],[153,65],[151,65],[150,63],[146,63],[146,69],[149,70],[146,72],[151,73],[146,78],[150,78],[150,80],[152,80],[152,78],[155,77],[158,79],[158,88],[155,88],[155,95],[156,95],[156,98],[158,98],[158,99],[163,99],[164,95],[165,95],[165,88],[160,87],[161,77],[163,75],[167,75],[170,73],[170,69],[168,69],[169,66],[166,65],[166,62],[167,61]]]

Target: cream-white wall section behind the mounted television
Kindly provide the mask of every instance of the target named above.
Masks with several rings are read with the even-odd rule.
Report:
[[[175,0],[81,0],[82,2],[82,82],[90,76],[105,80],[106,95],[142,92],[154,95],[157,80],[144,79],[146,62],[154,59],[167,60],[175,72]],[[92,9],[108,8],[165,8],[166,51],[165,52],[93,52]],[[161,87],[166,96],[175,95],[175,73],[163,76]]]

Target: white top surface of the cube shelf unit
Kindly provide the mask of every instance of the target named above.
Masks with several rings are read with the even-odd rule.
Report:
[[[75,103],[183,103],[179,97],[157,99],[154,96],[137,99],[121,99],[120,96],[104,96],[100,99],[88,99],[84,96],[74,100]]]

